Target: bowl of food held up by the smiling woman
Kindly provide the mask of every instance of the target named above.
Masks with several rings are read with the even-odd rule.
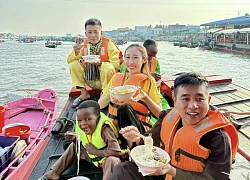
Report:
[[[125,101],[131,99],[135,95],[137,90],[138,87],[133,85],[117,86],[111,90],[111,94],[118,101]]]

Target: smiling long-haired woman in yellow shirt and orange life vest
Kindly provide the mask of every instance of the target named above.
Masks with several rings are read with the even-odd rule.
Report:
[[[124,63],[127,71],[115,74],[108,86],[139,86],[134,99],[119,102],[110,94],[109,88],[104,88],[99,104],[101,108],[109,105],[108,117],[113,119],[118,128],[134,125],[144,133],[145,128],[152,126],[149,122],[151,113],[157,115],[156,109],[161,110],[159,93],[155,79],[149,72],[145,48],[139,44],[130,45],[125,50]]]

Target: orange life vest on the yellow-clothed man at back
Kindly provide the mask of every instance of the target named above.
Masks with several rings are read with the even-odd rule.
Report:
[[[102,46],[100,50],[100,59],[102,62],[109,62],[109,56],[108,56],[108,43],[109,41],[112,41],[109,38],[102,37]],[[112,41],[113,42],[113,41]],[[88,52],[88,40],[86,39],[83,43],[83,56],[87,55]],[[114,43],[115,44],[115,43]],[[119,59],[120,59],[120,64],[123,62],[123,55],[121,50],[117,47],[115,44],[116,48],[120,51],[119,52]]]

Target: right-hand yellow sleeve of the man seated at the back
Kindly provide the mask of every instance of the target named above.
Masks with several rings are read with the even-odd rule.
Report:
[[[120,59],[119,59],[120,50],[116,47],[113,41],[108,43],[108,56],[109,62],[115,67],[116,71],[120,68]]]

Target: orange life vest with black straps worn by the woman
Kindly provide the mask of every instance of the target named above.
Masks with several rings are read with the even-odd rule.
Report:
[[[129,79],[125,80],[125,73],[116,73],[113,86],[122,86],[122,85],[134,85],[139,86],[143,81],[147,80],[149,77],[146,74],[134,74]],[[139,93],[139,90],[135,93],[134,96],[137,96]],[[108,117],[113,119],[113,123],[117,125],[117,110],[118,108],[125,103],[129,103],[135,110],[137,117],[142,121],[143,125],[145,126],[146,130],[151,127],[149,125],[149,117],[150,117],[150,111],[143,101],[132,101],[132,100],[126,100],[124,102],[118,102],[118,103],[109,103],[109,109],[108,109]]]

